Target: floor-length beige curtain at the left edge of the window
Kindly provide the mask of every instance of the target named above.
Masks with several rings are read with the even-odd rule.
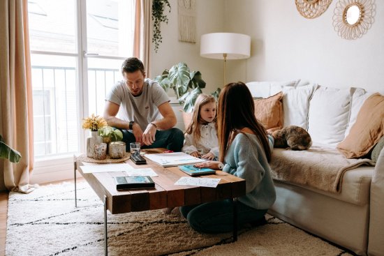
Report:
[[[0,133],[6,144],[19,151],[19,163],[0,160],[8,190],[29,193],[34,167],[31,60],[27,0],[0,1]]]

